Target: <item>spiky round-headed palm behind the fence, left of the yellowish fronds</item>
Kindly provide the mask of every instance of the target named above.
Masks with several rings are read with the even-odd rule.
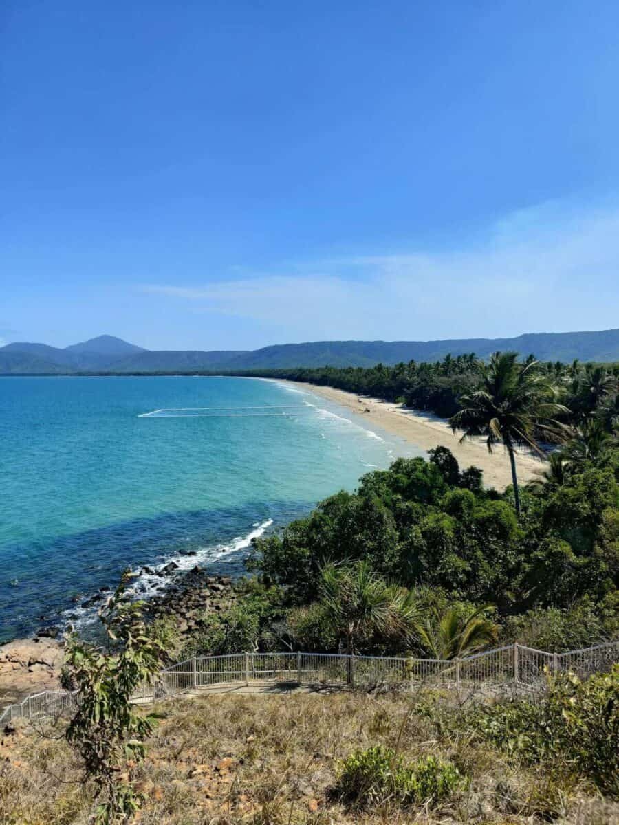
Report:
[[[373,633],[407,639],[418,615],[411,593],[385,582],[368,561],[327,564],[321,571],[320,596],[348,655],[359,638]]]

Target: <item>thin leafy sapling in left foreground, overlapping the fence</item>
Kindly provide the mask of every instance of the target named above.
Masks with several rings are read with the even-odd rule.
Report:
[[[67,639],[63,686],[78,691],[78,709],[66,738],[83,760],[84,774],[97,787],[96,821],[101,825],[132,816],[140,798],[130,780],[131,763],[144,758],[144,738],[156,717],[144,716],[130,702],[143,681],[159,670],[164,651],[142,619],[142,602],[131,602],[126,572],[99,615],[107,651]]]

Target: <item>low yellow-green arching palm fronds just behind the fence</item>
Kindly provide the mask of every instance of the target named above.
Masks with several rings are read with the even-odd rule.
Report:
[[[470,656],[497,638],[499,628],[489,619],[493,611],[492,605],[483,605],[465,619],[456,607],[448,607],[442,614],[434,609],[425,621],[415,623],[415,634],[432,658]]]

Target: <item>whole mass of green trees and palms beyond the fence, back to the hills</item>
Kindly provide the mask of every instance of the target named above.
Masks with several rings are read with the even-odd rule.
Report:
[[[450,393],[466,389],[465,418],[453,419],[465,434],[512,452],[540,450],[541,437],[562,443],[538,481],[504,493],[442,447],[366,474],[356,493],[254,544],[257,579],[232,610],[207,618],[193,649],[451,658],[499,637],[560,651],[617,634],[617,367],[503,354],[323,377],[334,375],[394,396],[451,382]]]

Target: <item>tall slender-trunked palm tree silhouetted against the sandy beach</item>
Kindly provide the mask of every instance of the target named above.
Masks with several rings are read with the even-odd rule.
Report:
[[[563,434],[566,428],[555,416],[569,410],[554,399],[555,390],[541,373],[538,361],[528,358],[521,364],[516,352],[495,352],[484,367],[480,389],[463,395],[462,409],[451,417],[452,430],[464,431],[461,441],[484,436],[489,452],[497,444],[508,451],[518,518],[516,450],[522,447],[544,458],[538,435],[546,433],[556,438]]]

